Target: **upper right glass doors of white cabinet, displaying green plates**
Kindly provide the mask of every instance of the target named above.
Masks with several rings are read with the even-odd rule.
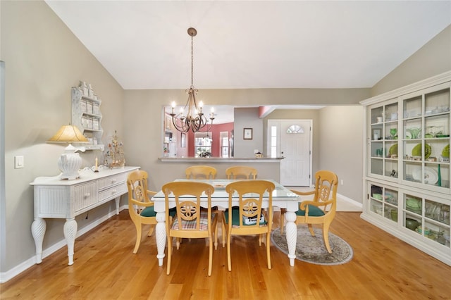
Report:
[[[403,179],[450,188],[450,86],[403,97]]]

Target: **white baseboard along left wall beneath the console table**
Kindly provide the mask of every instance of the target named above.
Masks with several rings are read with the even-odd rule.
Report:
[[[124,209],[128,209],[128,206],[127,205],[121,206],[119,208],[119,211],[123,211]],[[116,211],[111,211],[110,213],[108,213],[108,215],[104,215],[104,217],[94,220],[89,225],[78,230],[77,235],[75,236],[75,242],[77,242],[77,237],[84,235],[86,232],[94,229],[101,223],[104,223],[106,220],[113,217],[114,215],[116,215]],[[63,248],[63,246],[66,245],[67,245],[66,239],[61,239],[61,241],[56,242],[55,244],[49,246],[47,249],[44,249],[42,251],[42,258],[44,259],[47,256],[54,254],[56,251],[58,251],[59,249]],[[35,264],[36,264],[36,256],[32,256],[31,258],[27,259],[27,261],[20,263],[20,265],[16,265],[16,267],[12,268],[11,270],[0,273],[0,283],[4,283],[7,282],[8,280],[13,279],[13,277],[16,277],[17,275],[27,270],[28,268],[31,268]]]

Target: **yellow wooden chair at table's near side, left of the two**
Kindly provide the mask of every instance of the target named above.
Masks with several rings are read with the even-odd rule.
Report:
[[[170,222],[166,222],[166,235],[168,237],[168,267],[166,274],[171,273],[172,239],[208,238],[209,239],[209,271],[213,264],[213,239],[217,223],[217,214],[211,213],[211,194],[214,187],[204,182],[169,182],[163,185],[166,198],[166,220],[168,220],[168,201],[173,194],[176,204],[176,214]],[[201,208],[201,195],[206,194],[208,207]],[[217,242],[215,243],[217,244]]]

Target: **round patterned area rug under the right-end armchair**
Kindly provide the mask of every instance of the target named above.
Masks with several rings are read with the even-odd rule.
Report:
[[[320,228],[314,228],[315,237],[312,237],[307,225],[297,226],[296,259],[317,265],[340,265],[351,261],[353,251],[340,237],[329,232],[329,244],[332,253],[328,253],[324,246],[323,232]],[[271,242],[285,254],[288,254],[285,230],[280,234],[280,228],[271,233]]]

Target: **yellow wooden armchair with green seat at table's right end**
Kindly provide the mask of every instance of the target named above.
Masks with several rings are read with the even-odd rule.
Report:
[[[326,249],[332,253],[329,244],[329,227],[337,211],[338,176],[328,170],[319,170],[315,173],[315,189],[310,192],[292,192],[300,196],[313,195],[311,201],[299,202],[296,212],[296,224],[307,224],[312,237],[315,236],[312,224],[323,225],[323,239]],[[285,209],[280,210],[280,232],[283,232]]]

